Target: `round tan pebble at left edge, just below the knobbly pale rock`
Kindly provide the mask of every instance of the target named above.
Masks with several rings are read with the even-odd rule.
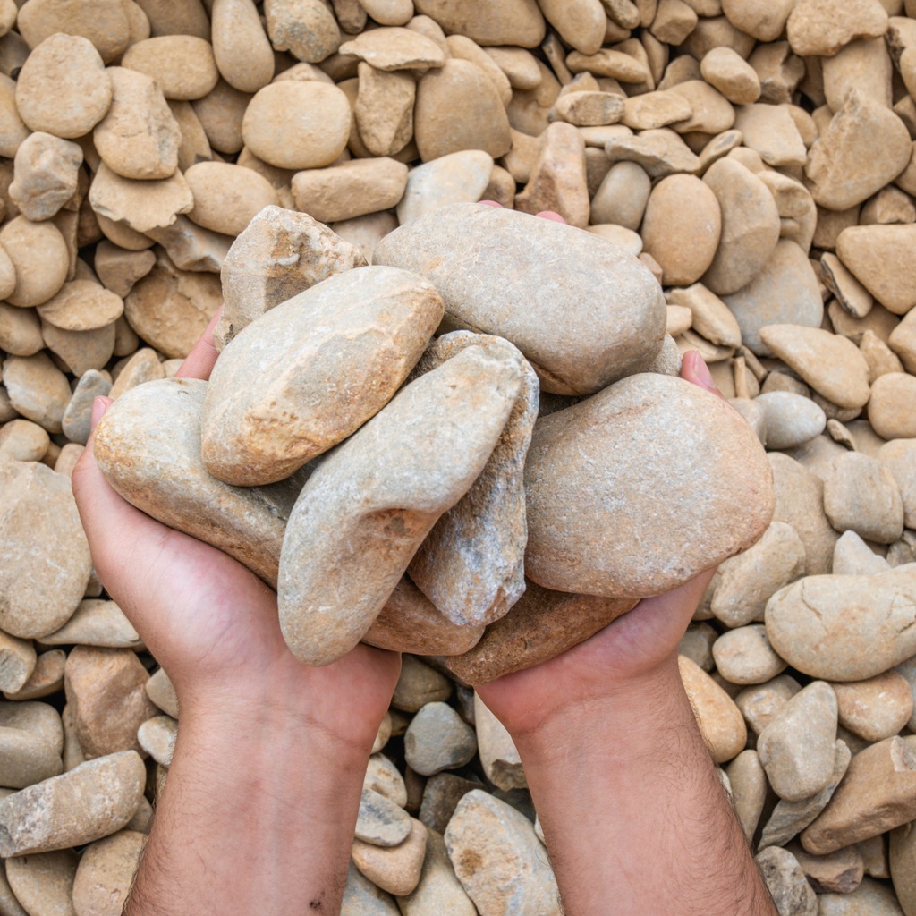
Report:
[[[63,286],[70,255],[54,224],[16,216],[0,229],[0,244],[16,270],[16,289],[6,296],[12,305],[40,305]]]

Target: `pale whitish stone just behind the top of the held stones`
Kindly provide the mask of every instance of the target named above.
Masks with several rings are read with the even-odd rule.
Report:
[[[493,169],[493,157],[482,149],[448,153],[410,169],[397,203],[398,224],[409,223],[450,203],[481,200]]]

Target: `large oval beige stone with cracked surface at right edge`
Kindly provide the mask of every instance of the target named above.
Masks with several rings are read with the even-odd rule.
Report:
[[[808,576],[769,599],[766,622],[770,645],[792,668],[864,681],[916,655],[916,564]]]

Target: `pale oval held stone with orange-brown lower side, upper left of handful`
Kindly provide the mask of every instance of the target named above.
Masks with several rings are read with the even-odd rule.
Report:
[[[213,369],[203,463],[235,485],[289,477],[394,397],[441,320],[432,284],[395,267],[328,278],[267,312]]]

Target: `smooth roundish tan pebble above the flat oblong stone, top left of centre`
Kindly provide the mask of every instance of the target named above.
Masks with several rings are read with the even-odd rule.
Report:
[[[336,86],[276,82],[248,104],[242,135],[245,145],[270,165],[315,169],[329,165],[343,152],[350,120],[350,104]]]

